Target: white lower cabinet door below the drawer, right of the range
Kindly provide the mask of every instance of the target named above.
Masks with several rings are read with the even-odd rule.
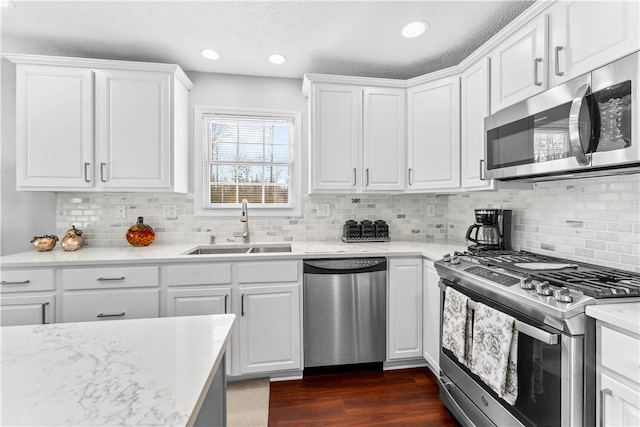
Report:
[[[601,427],[640,425],[640,391],[607,374],[600,375],[598,419]]]

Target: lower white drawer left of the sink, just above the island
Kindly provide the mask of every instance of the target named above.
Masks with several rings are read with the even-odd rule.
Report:
[[[85,322],[160,316],[160,291],[94,291],[62,296],[62,321]]]

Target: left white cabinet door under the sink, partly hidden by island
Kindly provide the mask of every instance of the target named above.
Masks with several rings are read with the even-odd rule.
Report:
[[[230,312],[231,288],[169,289],[167,316],[198,316]]]

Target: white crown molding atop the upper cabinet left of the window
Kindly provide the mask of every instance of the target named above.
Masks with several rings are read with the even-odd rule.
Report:
[[[3,54],[3,56],[14,64],[22,65],[50,65],[54,67],[140,70],[172,73],[187,88],[187,90],[193,89],[193,82],[177,64],[120,61],[113,59],[75,58],[67,56],[30,55],[22,53],[5,53]]]

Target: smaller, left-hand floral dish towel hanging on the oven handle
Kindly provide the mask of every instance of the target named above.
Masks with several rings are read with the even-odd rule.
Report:
[[[442,347],[450,350],[460,363],[469,365],[471,316],[469,297],[448,286],[442,313]],[[468,339],[467,339],[468,338]]]

